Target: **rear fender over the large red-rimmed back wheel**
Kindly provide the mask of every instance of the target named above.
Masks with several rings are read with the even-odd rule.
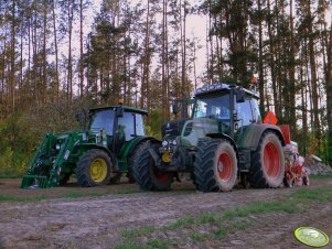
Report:
[[[286,142],[279,127],[268,123],[253,123],[242,127],[235,134],[235,142],[238,149],[256,151],[263,133],[267,131],[275,132],[285,147]]]

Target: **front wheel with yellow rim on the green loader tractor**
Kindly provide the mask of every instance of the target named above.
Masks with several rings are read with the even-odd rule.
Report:
[[[77,162],[76,177],[79,186],[101,186],[109,183],[111,162],[108,154],[101,150],[85,152]]]

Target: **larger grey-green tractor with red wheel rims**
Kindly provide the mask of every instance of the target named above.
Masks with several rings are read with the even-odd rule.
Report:
[[[163,141],[148,142],[139,154],[133,165],[137,183],[143,190],[164,191],[185,172],[203,192],[227,192],[237,181],[280,186],[283,134],[279,127],[261,122],[257,100],[255,91],[234,85],[196,89],[190,101],[192,117],[163,124]],[[173,106],[173,113],[178,109]]]

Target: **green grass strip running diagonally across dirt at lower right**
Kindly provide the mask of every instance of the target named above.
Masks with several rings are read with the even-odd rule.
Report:
[[[246,230],[251,227],[255,223],[250,215],[264,214],[264,213],[287,213],[298,214],[299,212],[306,212],[308,203],[318,202],[332,202],[332,186],[323,186],[318,188],[299,188],[294,193],[283,196],[279,202],[254,202],[235,209],[226,210],[223,214],[203,214],[200,216],[185,216],[176,219],[171,224],[167,224],[161,227],[147,226],[138,229],[127,229],[122,231],[122,237],[126,241],[135,241],[138,238],[150,238],[146,242],[147,247],[152,248],[168,248],[168,242],[151,238],[153,232],[167,232],[170,230],[183,230],[183,229],[195,229],[197,226],[208,225],[210,232],[206,235],[192,231],[189,236],[195,243],[205,241],[206,239],[223,240],[227,237],[227,234],[233,234],[238,230]],[[212,229],[212,230],[211,230]],[[156,235],[153,235],[156,236]],[[164,243],[163,243],[164,242]]]

